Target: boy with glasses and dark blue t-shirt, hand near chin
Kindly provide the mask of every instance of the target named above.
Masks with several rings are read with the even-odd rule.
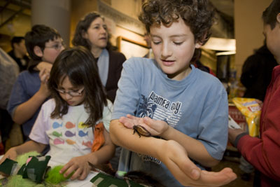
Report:
[[[47,69],[39,72],[36,66],[42,61],[55,62],[64,44],[55,29],[34,25],[25,35],[25,46],[31,61],[27,71],[22,71],[13,85],[7,110],[15,123],[22,125],[23,137],[27,139],[41,105],[50,96],[46,84],[50,72]]]

